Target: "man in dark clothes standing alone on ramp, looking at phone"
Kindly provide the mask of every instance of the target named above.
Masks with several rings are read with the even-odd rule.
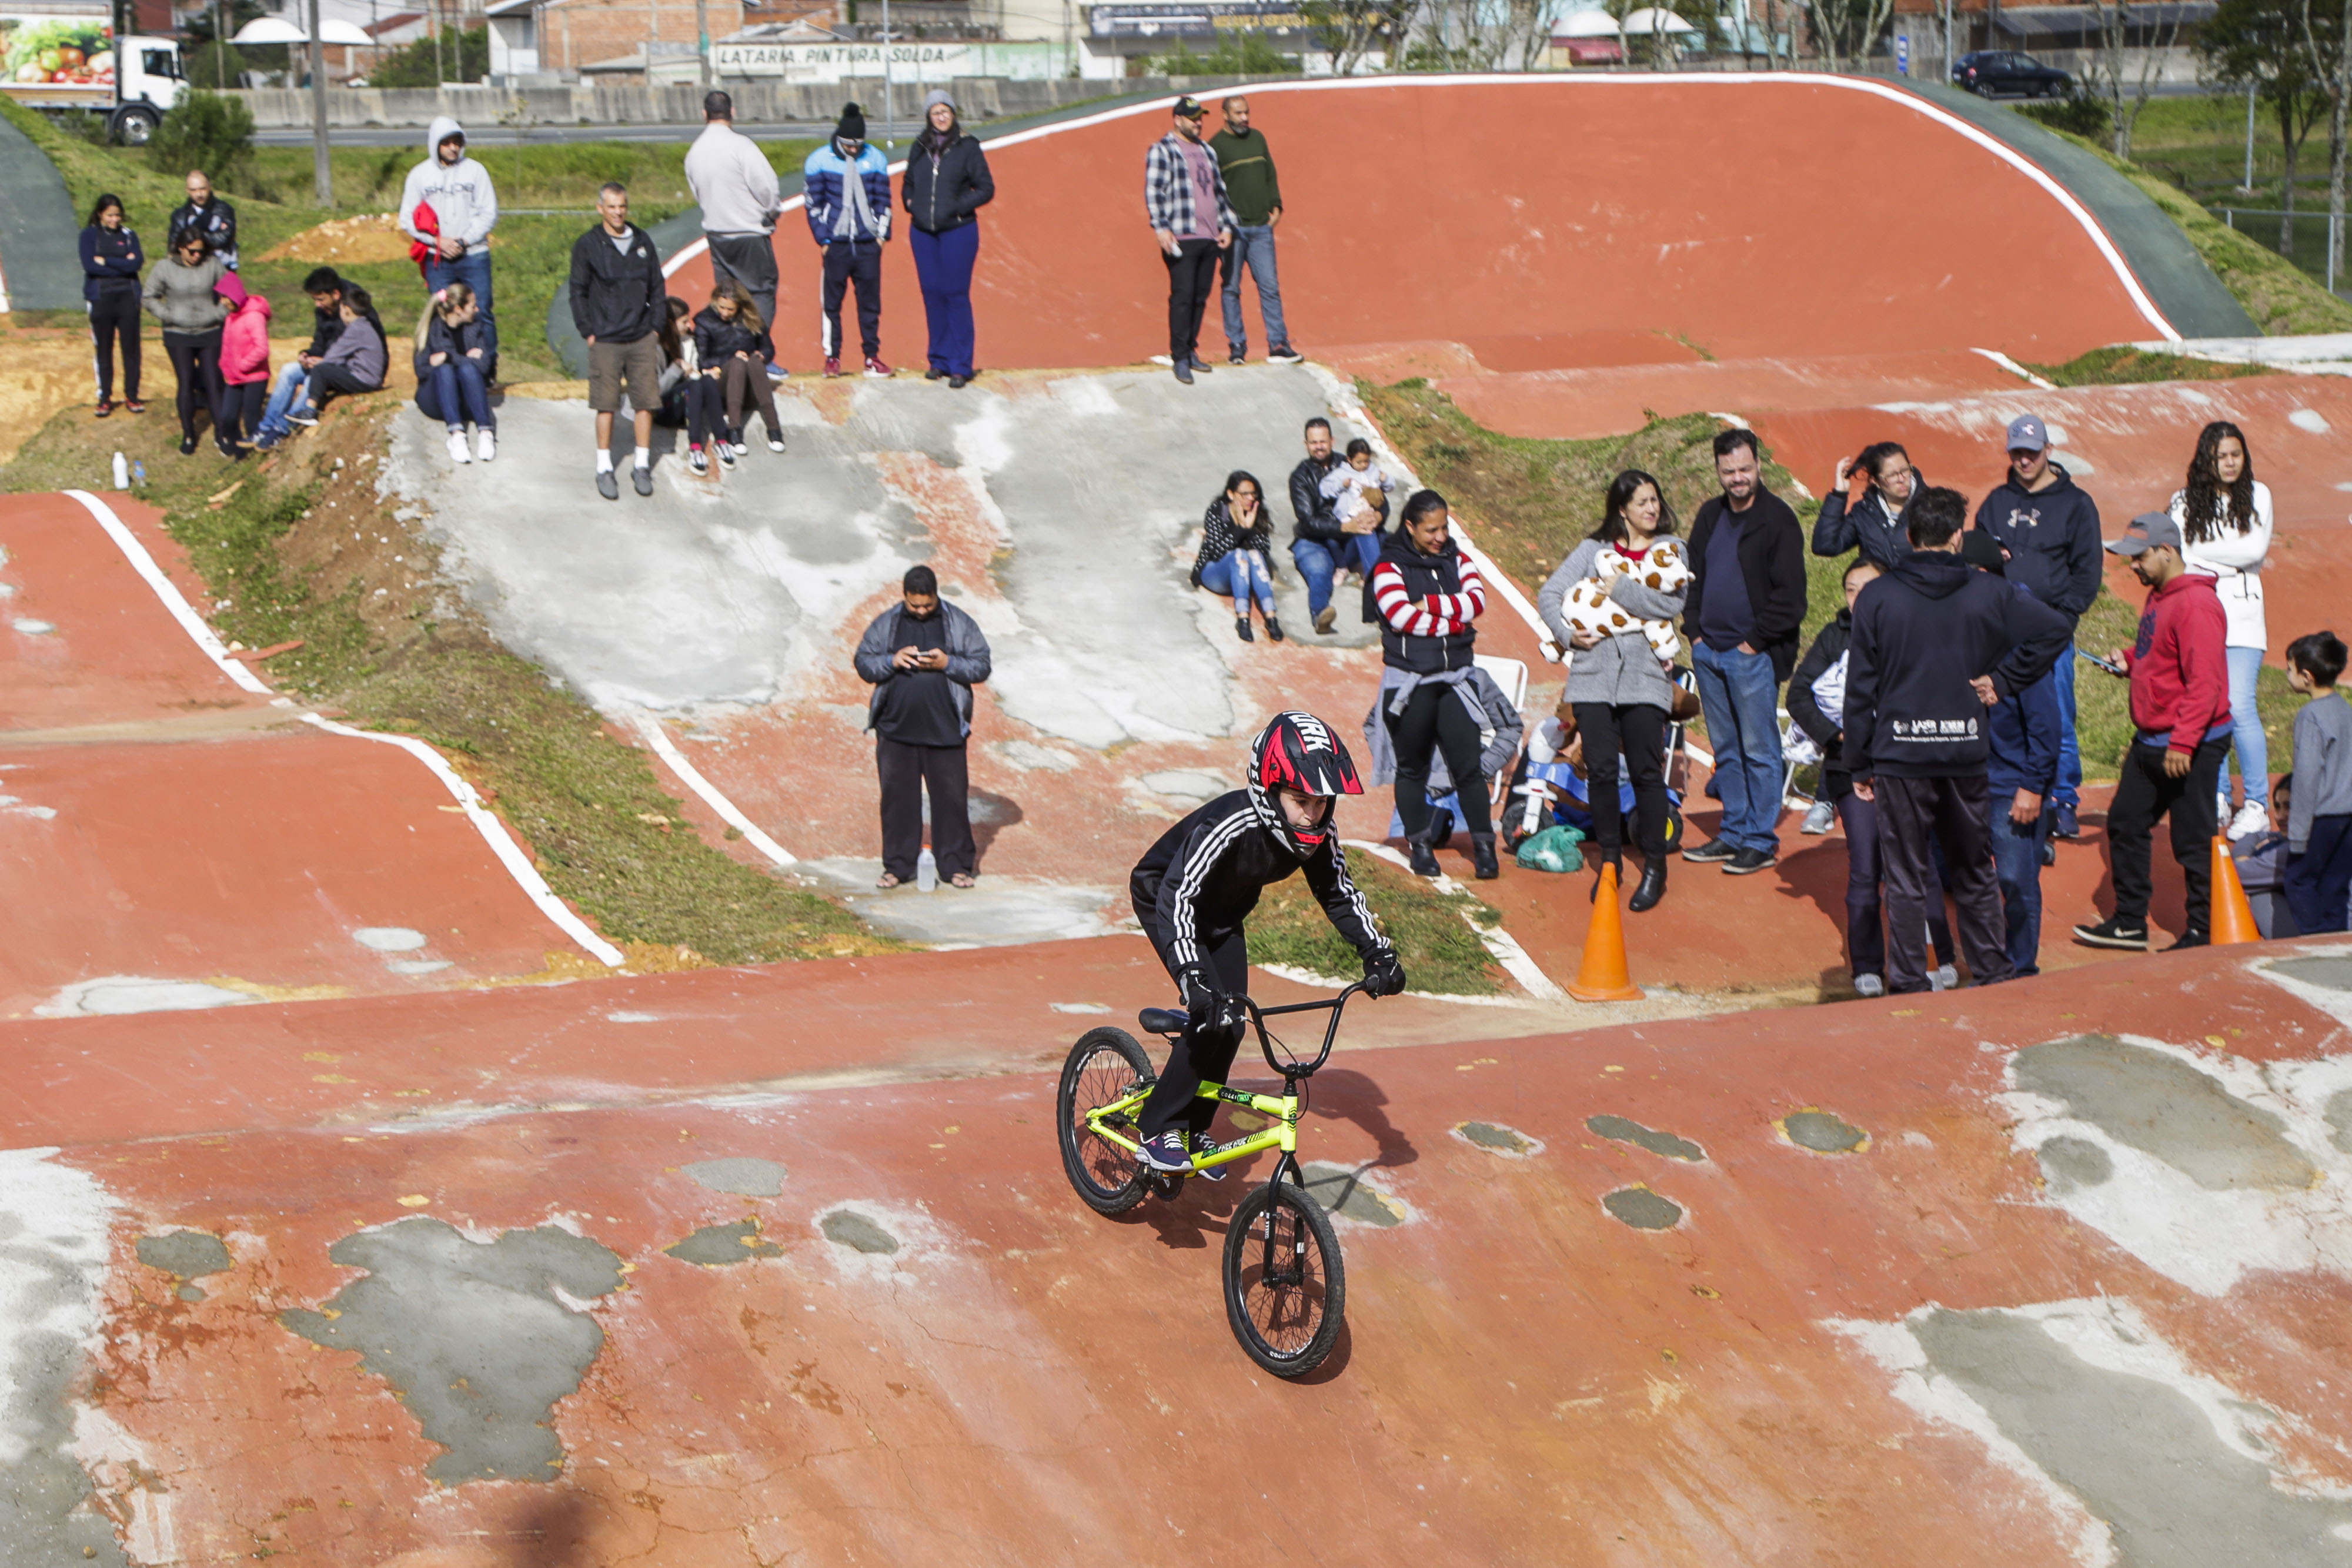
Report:
[[[858,639],[858,675],[875,689],[866,726],[875,731],[882,776],[882,879],[915,879],[922,856],[922,797],[931,795],[931,856],[938,875],[967,889],[978,875],[971,842],[969,769],[971,689],[988,679],[988,639],[978,623],[938,597],[929,567],[908,567],[901,602],[875,616]]]

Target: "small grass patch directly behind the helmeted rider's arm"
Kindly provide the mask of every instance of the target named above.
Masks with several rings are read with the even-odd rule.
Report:
[[[1381,931],[1397,945],[1416,992],[1491,997],[1505,987],[1494,954],[1463,924],[1465,912],[1482,926],[1501,922],[1484,900],[1470,893],[1439,893],[1421,877],[1364,851],[1348,856],[1348,875],[1364,891]],[[1291,877],[1265,891],[1256,914],[1249,917],[1249,957],[1254,964],[1284,964],[1338,980],[1352,980],[1364,969],[1355,947],[1331,929],[1305,877]]]

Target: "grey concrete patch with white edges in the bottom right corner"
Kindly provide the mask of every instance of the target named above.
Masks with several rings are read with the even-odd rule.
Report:
[[[2296,1422],[2194,1371],[2129,1300],[1830,1328],[2023,1476],[2082,1563],[2338,1568],[2352,1552],[2352,1497],[2286,1458]]]

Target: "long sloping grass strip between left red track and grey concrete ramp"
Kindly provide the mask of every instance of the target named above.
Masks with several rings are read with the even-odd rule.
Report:
[[[209,451],[181,458],[169,416],[99,425],[75,409],[0,468],[0,489],[103,489],[115,449],[143,458],[139,498],[186,545],[221,635],[247,646],[299,637],[301,649],[268,663],[270,684],[449,752],[548,884],[633,947],[633,966],[654,961],[654,945],[670,966],[896,947],[818,893],[706,844],[644,752],[442,602],[433,545],[376,496],[381,423],[400,407],[390,395],[343,400],[266,473]]]

